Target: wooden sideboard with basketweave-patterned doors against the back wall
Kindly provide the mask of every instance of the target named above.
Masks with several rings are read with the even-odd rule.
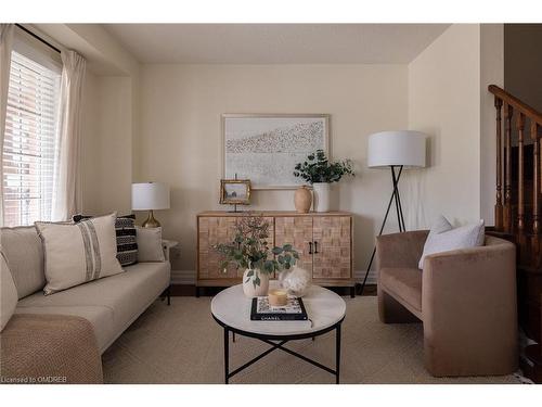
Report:
[[[269,245],[291,243],[299,253],[298,266],[312,272],[313,282],[324,287],[349,287],[354,292],[353,217],[347,212],[298,214],[296,212],[203,212],[197,215],[197,280],[199,287],[238,284],[243,270],[221,270],[222,257],[212,246],[233,241],[241,216],[261,215],[270,224]]]

